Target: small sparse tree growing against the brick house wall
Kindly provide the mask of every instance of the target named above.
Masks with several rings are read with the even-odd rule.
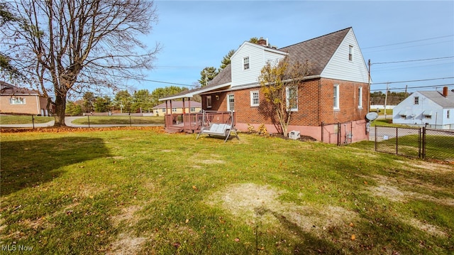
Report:
[[[260,90],[270,104],[271,113],[277,116],[279,128],[284,136],[288,134],[288,126],[292,110],[297,108],[298,91],[304,77],[311,72],[311,64],[290,63],[285,57],[277,63],[268,61],[262,68],[258,78]],[[274,112],[274,113],[273,113]],[[274,116],[272,116],[274,119]]]

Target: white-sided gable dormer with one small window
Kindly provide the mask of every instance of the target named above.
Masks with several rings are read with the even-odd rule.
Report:
[[[232,87],[256,84],[267,61],[279,61],[287,53],[255,43],[245,42],[231,56]]]

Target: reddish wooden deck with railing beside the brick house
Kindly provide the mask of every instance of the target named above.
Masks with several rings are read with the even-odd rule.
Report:
[[[228,124],[231,121],[230,112],[201,112],[191,114],[166,114],[165,131],[167,133],[186,132],[199,133],[202,126],[209,126],[211,122]],[[235,119],[235,118],[233,118]]]

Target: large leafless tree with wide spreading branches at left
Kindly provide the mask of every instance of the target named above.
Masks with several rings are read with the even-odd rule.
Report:
[[[9,26],[4,43],[15,67],[55,106],[55,126],[65,126],[67,96],[121,87],[142,77],[160,46],[140,36],[157,21],[152,0],[16,0],[23,23]],[[51,100],[50,93],[55,94]]]

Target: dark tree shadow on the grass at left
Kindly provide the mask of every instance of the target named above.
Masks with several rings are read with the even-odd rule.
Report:
[[[0,197],[41,185],[64,173],[63,166],[109,156],[102,139],[62,137],[1,142]]]

